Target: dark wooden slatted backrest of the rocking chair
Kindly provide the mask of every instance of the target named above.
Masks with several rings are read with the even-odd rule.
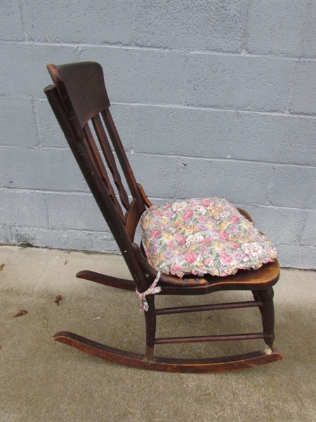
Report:
[[[147,288],[133,252],[145,200],[112,120],[103,69],[95,62],[47,65],[44,89],[72,153],[138,288]]]

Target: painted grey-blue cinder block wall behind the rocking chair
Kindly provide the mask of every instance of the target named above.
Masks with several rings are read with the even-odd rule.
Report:
[[[2,0],[1,242],[116,250],[43,94],[103,65],[152,200],[223,196],[315,268],[315,1]]]

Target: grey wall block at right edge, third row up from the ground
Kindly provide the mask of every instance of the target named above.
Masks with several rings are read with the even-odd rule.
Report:
[[[315,208],[315,176],[312,167],[276,165],[270,185],[271,205]]]

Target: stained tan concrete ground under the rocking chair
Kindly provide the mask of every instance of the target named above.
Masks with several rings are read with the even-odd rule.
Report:
[[[80,269],[93,269],[128,278],[120,256],[3,246],[0,261],[1,422],[316,420],[314,271],[283,269],[275,286],[275,347],[284,354],[283,361],[199,375],[119,366],[52,340],[55,332],[67,330],[144,352],[136,295],[74,276]],[[245,294],[249,297],[238,292],[234,297]],[[59,306],[54,303],[57,295],[62,296]],[[215,302],[227,295],[231,293],[191,299]],[[189,300],[161,296],[157,305]],[[21,309],[27,314],[13,318]],[[252,330],[260,319],[258,309],[159,318],[159,335],[170,335],[171,328],[206,334],[206,324],[213,333],[237,325],[242,332],[249,324]],[[259,340],[242,343],[178,345],[171,352],[206,357],[213,349],[227,353],[228,348],[263,347]],[[157,355],[168,354],[168,347],[157,345]]]

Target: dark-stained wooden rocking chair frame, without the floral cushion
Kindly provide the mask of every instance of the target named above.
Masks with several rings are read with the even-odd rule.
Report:
[[[272,348],[275,337],[272,286],[279,279],[277,260],[263,264],[256,270],[241,269],[232,276],[205,274],[204,276],[186,275],[180,278],[158,273],[148,262],[143,245],[134,243],[140,216],[148,207],[151,207],[152,203],[133,176],[114,126],[101,66],[94,62],[83,62],[65,65],[49,64],[47,68],[54,84],[46,87],[44,92],[100,211],[117,241],[133,280],[119,279],[93,271],[80,271],[77,277],[125,290],[135,291],[137,288],[138,293],[145,292],[143,301],[147,300],[148,305],[147,311],[144,312],[145,354],[119,350],[67,331],[56,333],[54,340],[110,362],[155,371],[195,373],[231,371],[282,359],[282,355]],[[124,176],[118,170],[116,160]],[[110,178],[114,183],[111,183]],[[126,183],[122,181],[122,178],[125,178]],[[124,187],[126,185],[130,191],[129,194]],[[239,212],[252,221],[244,210],[239,210]],[[157,287],[161,289],[159,295],[204,295],[218,290],[250,290],[253,298],[245,302],[156,309],[154,295],[150,294],[152,291],[148,289],[157,278],[157,274]],[[263,332],[173,338],[156,338],[155,335],[157,315],[248,307],[259,308]],[[248,339],[263,339],[264,350],[220,358],[154,357],[154,345],[163,343]]]

